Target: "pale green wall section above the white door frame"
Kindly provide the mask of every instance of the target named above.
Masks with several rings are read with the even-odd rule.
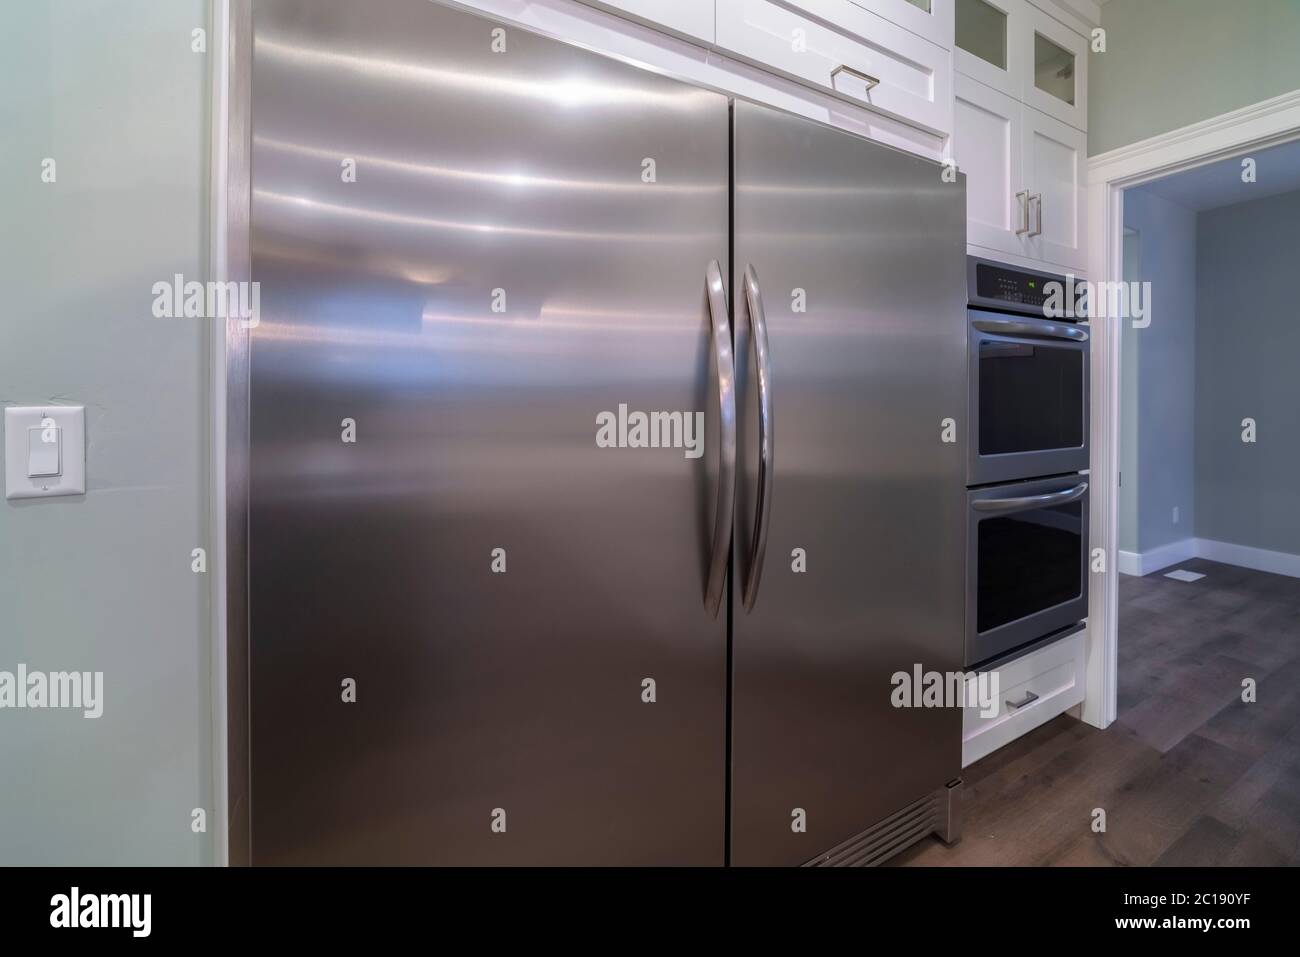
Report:
[[[1110,0],[1101,26],[1093,156],[1300,90],[1300,0]]]

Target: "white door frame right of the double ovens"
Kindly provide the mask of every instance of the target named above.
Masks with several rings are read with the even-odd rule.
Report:
[[[1217,160],[1300,139],[1300,90],[1088,160],[1088,277],[1123,278],[1123,192],[1132,186]],[[1095,296],[1096,300],[1102,296]],[[1119,489],[1119,320],[1092,320],[1092,547],[1105,571],[1093,575],[1088,598],[1088,653],[1080,716],[1104,728],[1115,719],[1118,568],[1115,524]]]

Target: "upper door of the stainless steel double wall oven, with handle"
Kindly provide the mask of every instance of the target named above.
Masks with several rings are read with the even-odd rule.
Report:
[[[967,485],[1088,468],[1088,326],[968,309]]]

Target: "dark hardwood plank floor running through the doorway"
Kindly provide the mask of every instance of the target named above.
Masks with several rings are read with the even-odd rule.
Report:
[[[1176,567],[1206,577],[1119,576],[1118,720],[1062,715],[967,767],[961,843],[893,863],[1300,863],[1300,579]]]

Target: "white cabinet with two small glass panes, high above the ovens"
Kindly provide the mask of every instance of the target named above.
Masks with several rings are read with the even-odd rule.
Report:
[[[998,92],[1088,129],[1088,42],[1027,0],[956,0],[953,64]]]

